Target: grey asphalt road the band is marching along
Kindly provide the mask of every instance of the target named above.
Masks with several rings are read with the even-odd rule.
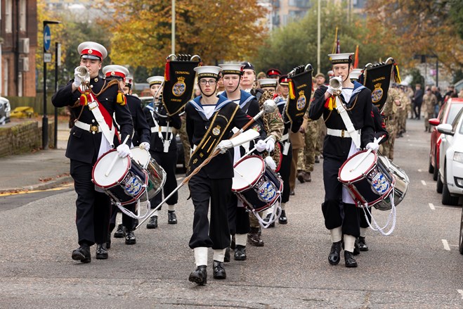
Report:
[[[395,162],[410,186],[395,229],[387,237],[370,230],[370,251],[357,256],[355,269],[344,259],[327,262],[321,163],[311,183],[297,184],[288,225],[264,230],[265,246],[247,246],[246,261],[227,263],[227,279],[212,278],[210,252],[206,286],[188,282],[195,265],[185,186],[178,225],[167,225],[164,207],[158,229],[138,229],[133,246],[112,239],[110,258],[90,264],[70,258],[77,247],[74,191],[49,191],[22,206],[0,205],[0,308],[462,308],[462,208],[441,204],[422,120],[409,120],[407,129],[396,140]],[[389,212],[373,215],[384,225]]]

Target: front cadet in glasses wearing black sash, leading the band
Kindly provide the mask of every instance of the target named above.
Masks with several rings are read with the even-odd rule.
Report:
[[[217,80],[221,68],[202,66],[195,68],[201,95],[185,106],[186,131],[193,154],[188,164],[188,175],[197,168],[223,139],[231,136],[233,127],[244,127],[251,117],[224,96],[216,96]],[[261,137],[265,133],[261,130]],[[207,248],[214,251],[214,278],[225,279],[223,259],[230,245],[228,228],[228,204],[230,203],[233,178],[233,156],[230,151],[215,156],[191,177],[188,182],[195,214],[190,248],[195,252],[196,270],[190,274],[190,282],[207,283]],[[211,207],[208,220],[209,203]]]

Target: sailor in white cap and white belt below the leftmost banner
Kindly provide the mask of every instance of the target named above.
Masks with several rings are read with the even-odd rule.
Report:
[[[164,188],[159,191],[156,196],[150,199],[151,209],[156,208],[162,201],[162,193],[164,198],[169,196],[177,187],[176,167],[177,167],[177,143],[172,133],[172,128],[180,129],[182,122],[178,114],[168,116],[164,104],[160,101],[162,94],[163,76],[151,76],[146,80],[150,84],[150,92],[153,100],[145,107],[145,116],[148,120],[148,125],[151,128],[151,148],[150,154],[156,162],[166,172],[166,182]],[[175,205],[178,202],[177,191],[167,199],[167,223],[169,225],[177,224],[177,215],[175,213]],[[159,208],[161,210],[161,208]],[[159,210],[150,217],[150,221],[146,225],[147,229],[157,228],[157,216]]]

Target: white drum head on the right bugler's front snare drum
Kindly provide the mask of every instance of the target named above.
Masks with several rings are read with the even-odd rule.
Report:
[[[367,158],[363,160],[365,153],[366,151],[360,151],[351,156],[351,158],[348,158],[346,162],[344,162],[344,165],[342,165],[341,169],[339,170],[339,180],[341,182],[353,182],[356,179],[360,179],[372,168],[376,162],[376,155],[370,152],[368,153]],[[358,167],[353,170],[353,168],[356,167],[360,160],[363,160],[362,163],[360,163],[360,165],[358,165]]]

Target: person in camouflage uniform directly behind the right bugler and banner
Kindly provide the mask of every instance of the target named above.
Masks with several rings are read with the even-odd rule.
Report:
[[[400,105],[400,95],[396,87],[390,87],[387,93],[387,100],[384,103],[382,115],[386,122],[386,130],[389,132],[389,139],[379,145],[379,151],[383,156],[393,160],[394,141],[396,141],[396,114]]]

